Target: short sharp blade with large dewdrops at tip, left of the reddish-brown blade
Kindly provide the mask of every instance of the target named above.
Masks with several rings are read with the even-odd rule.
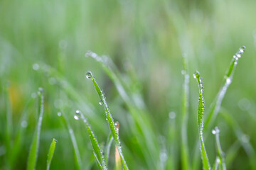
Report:
[[[105,159],[103,157],[103,152],[102,149],[100,148],[99,143],[97,142],[97,139],[94,135],[94,132],[92,132],[92,129],[90,127],[90,124],[87,121],[87,118],[80,112],[80,111],[75,111],[75,120],[82,119],[82,121],[85,123],[87,131],[90,136],[91,144],[92,144],[92,149],[93,149],[93,154],[95,155],[95,159],[97,161],[97,164],[100,169],[106,170],[107,169],[107,164],[105,163]]]

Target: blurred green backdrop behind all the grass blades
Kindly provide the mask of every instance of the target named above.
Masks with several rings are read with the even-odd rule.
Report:
[[[250,160],[256,162],[255,6],[256,1],[253,0],[1,0],[0,83],[1,86],[9,83],[12,143],[20,127],[21,114],[23,111],[28,113],[28,126],[13,169],[26,169],[38,118],[36,98],[27,103],[38,87],[45,90],[45,114],[36,169],[46,169],[48,147],[53,137],[58,142],[51,169],[75,169],[72,143],[57,116],[60,110],[68,115],[75,131],[82,169],[97,169],[87,131],[73,119],[75,110],[80,109],[90,121],[97,140],[101,143],[107,140],[110,131],[104,121],[104,110],[98,104],[99,98],[92,82],[85,79],[89,70],[105,91],[114,120],[120,123],[119,134],[129,168],[181,169],[181,70],[184,55],[188,58],[190,75],[188,147],[190,163],[194,164],[193,154],[198,140],[198,87],[193,72],[198,70],[203,77],[207,117],[210,103],[218,94],[230,60],[242,45],[247,49],[238,62],[222,107],[238,123],[244,133],[244,142],[249,141],[252,145],[251,154],[241,147],[242,144],[238,144],[238,149],[232,149],[238,137],[221,116],[218,115],[214,125],[220,128],[223,151],[226,153],[230,148],[231,152],[235,151],[235,158],[228,169],[252,169]],[[114,62],[119,77],[129,89],[127,93],[146,115],[151,127],[149,134],[156,137],[156,148],[138,147],[136,139],[143,137],[143,133],[138,136],[132,131],[138,125],[101,64],[85,57],[87,50],[107,55]],[[44,64],[57,70],[63,82],[65,79],[64,88],[52,74],[41,72]],[[65,91],[66,83],[72,86],[77,96]],[[8,169],[4,146],[6,107],[3,94],[1,89],[0,169]],[[87,107],[92,111],[87,111]],[[176,113],[174,120],[169,118],[170,112]],[[170,128],[174,130],[171,142],[166,139]],[[170,146],[173,149],[169,149]],[[216,155],[213,135],[206,138],[206,149],[213,164]],[[114,147],[110,167],[114,165],[113,150]],[[163,154],[162,150],[167,151]],[[151,153],[151,156],[146,157],[145,152]],[[169,164],[166,156],[174,161],[174,165],[166,165]],[[202,169],[201,162],[199,165],[198,169]]]

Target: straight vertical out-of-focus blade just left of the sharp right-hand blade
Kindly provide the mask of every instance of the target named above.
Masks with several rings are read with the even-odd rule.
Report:
[[[188,83],[189,75],[187,68],[187,60],[183,57],[183,98],[182,98],[182,117],[181,117],[181,166],[183,170],[190,169],[188,139],[187,139],[187,124],[188,124]]]

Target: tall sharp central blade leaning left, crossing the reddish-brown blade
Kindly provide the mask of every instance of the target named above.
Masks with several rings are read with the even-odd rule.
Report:
[[[107,101],[106,101],[106,98],[103,94],[103,91],[100,90],[100,87],[97,85],[97,82],[95,81],[95,78],[93,77],[92,72],[87,72],[86,77],[87,77],[87,79],[92,79],[92,83],[95,86],[97,94],[100,96],[100,100],[102,102],[102,105],[105,107],[105,112],[106,112],[106,116],[107,116],[107,123],[110,125],[110,130],[111,130],[112,135],[114,137],[115,145],[117,146],[118,152],[120,154],[123,168],[124,168],[124,170],[129,169],[125,160],[124,160],[124,155],[122,154],[122,147],[121,147],[121,143],[120,143],[120,140],[119,140],[119,135],[117,133],[116,128],[114,127],[114,120],[113,120],[112,115],[110,113],[110,108],[107,106]]]

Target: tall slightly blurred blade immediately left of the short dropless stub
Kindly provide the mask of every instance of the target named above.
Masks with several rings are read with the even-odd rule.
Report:
[[[38,89],[38,124],[35,130],[35,134],[32,140],[31,149],[28,154],[28,166],[27,170],[33,170],[36,167],[36,159],[38,157],[38,148],[40,143],[40,132],[41,132],[41,125],[43,120],[43,89]]]

